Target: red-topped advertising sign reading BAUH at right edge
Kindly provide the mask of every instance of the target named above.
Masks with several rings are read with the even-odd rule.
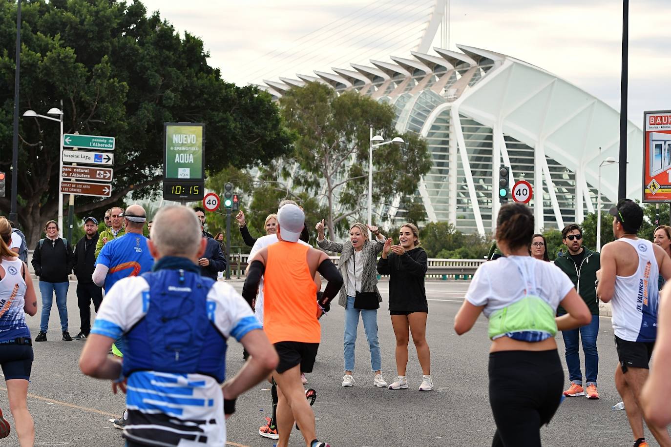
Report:
[[[671,110],[643,119],[643,202],[671,202]]]

